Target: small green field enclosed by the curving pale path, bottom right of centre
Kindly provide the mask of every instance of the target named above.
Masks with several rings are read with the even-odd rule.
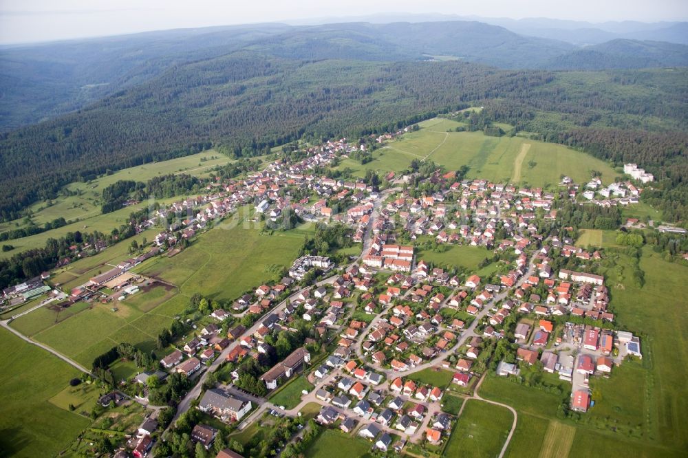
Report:
[[[444,450],[447,457],[496,457],[511,428],[513,415],[504,407],[468,400]]]

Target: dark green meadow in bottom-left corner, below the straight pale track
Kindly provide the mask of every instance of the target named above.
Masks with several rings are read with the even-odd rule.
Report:
[[[52,457],[74,441],[89,419],[49,400],[80,373],[46,351],[0,329],[0,455]]]

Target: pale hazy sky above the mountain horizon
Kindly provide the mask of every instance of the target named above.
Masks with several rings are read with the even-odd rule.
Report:
[[[0,0],[0,43],[384,12],[684,21],[688,0]]]

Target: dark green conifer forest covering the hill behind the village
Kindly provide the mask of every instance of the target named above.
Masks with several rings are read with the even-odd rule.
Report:
[[[380,133],[479,105],[514,133],[640,164],[659,179],[648,198],[667,219],[685,220],[687,81],[686,69],[549,72],[239,50],[176,65],[87,108],[0,134],[0,219],[22,217],[70,182],[129,166],[211,147],[251,157],[294,140]],[[671,204],[662,204],[667,195]]]

